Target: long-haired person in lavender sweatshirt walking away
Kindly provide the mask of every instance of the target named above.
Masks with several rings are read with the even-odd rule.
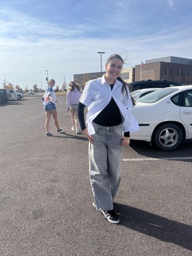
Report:
[[[69,83],[69,89],[67,91],[67,110],[71,114],[72,131],[76,131],[79,134],[79,120],[77,116],[77,106],[81,97],[80,84],[71,81]]]

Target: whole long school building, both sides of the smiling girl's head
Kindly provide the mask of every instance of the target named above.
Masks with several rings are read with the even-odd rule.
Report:
[[[105,72],[102,72],[102,75]],[[73,75],[75,82],[84,87],[89,80],[99,78],[101,72]],[[174,56],[146,60],[144,67],[136,65],[122,69],[121,78],[130,83],[140,80],[168,80],[180,84],[192,84],[192,59]]]

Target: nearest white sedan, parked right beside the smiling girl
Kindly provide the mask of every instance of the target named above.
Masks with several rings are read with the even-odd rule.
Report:
[[[129,110],[140,125],[130,139],[170,151],[192,140],[192,85],[166,87],[137,100]]]

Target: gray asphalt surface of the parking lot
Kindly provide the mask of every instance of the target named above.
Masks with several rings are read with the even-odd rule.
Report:
[[[66,96],[45,136],[41,95],[0,105],[0,255],[188,256],[192,250],[192,143],[163,152],[123,148],[114,207],[119,224],[92,206],[88,140],[71,130]]]

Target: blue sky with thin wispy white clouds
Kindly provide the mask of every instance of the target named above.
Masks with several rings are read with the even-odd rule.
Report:
[[[61,89],[73,74],[100,72],[111,54],[123,67],[192,58],[191,0],[0,0],[0,87]]]

